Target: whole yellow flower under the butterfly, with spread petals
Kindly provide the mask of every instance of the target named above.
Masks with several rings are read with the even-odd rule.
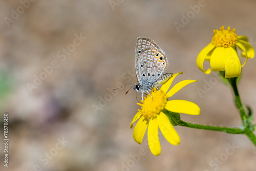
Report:
[[[178,73],[182,74],[182,72]],[[141,103],[137,103],[141,106],[141,110],[134,116],[131,123],[131,129],[133,123],[138,120],[134,132],[133,138],[139,144],[142,143],[142,139],[147,130],[148,145],[150,146],[151,152],[158,156],[161,154],[161,145],[158,137],[158,127],[162,132],[165,139],[173,144],[178,145],[180,143],[180,138],[177,132],[174,129],[174,126],[168,119],[168,117],[163,113],[163,110],[168,110],[175,113],[185,113],[190,115],[199,115],[200,108],[197,104],[186,101],[186,100],[169,100],[168,98],[177,93],[180,89],[191,82],[196,82],[195,80],[184,80],[177,83],[170,91],[167,90],[172,84],[174,78],[178,75],[175,74],[172,78],[166,81],[160,91],[157,91],[156,88],[151,93],[151,96],[148,95],[144,101],[141,100]],[[167,93],[166,93],[167,92]],[[153,98],[153,99],[152,99]]]

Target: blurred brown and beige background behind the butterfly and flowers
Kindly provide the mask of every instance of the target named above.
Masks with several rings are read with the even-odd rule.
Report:
[[[192,12],[199,4],[204,7]],[[161,138],[162,154],[154,156],[146,137],[141,145],[133,140],[135,92],[112,91],[137,82],[135,44],[138,36],[147,36],[165,51],[166,72],[183,71],[175,83],[198,80],[172,98],[200,106],[199,116],[181,114],[183,120],[240,126],[231,90],[215,73],[201,72],[196,58],[221,26],[236,28],[255,46],[255,8],[252,0],[1,1],[0,113],[9,114],[9,167],[1,143],[0,170],[256,170],[256,148],[246,136],[181,126],[176,127],[181,143]],[[175,22],[182,24],[187,14],[189,21],[177,29]],[[255,65],[248,60],[239,83],[252,111]],[[4,139],[3,120],[1,125]]]

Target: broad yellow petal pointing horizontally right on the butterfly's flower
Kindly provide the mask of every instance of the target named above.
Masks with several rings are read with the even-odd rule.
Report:
[[[170,112],[175,112],[175,113],[184,113],[189,115],[200,114],[199,106],[191,101],[186,101],[186,100],[167,101],[164,108]]]

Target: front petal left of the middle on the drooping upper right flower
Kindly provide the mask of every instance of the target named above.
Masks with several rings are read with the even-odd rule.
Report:
[[[224,71],[224,47],[218,47],[212,52],[210,58],[210,68],[212,71]]]

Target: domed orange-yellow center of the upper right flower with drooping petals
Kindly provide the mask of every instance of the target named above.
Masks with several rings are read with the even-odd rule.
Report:
[[[214,36],[211,39],[211,43],[216,47],[230,48],[238,41],[238,35],[234,32],[236,29],[230,30],[230,27],[227,30],[224,30],[224,26],[219,30],[214,30]]]

